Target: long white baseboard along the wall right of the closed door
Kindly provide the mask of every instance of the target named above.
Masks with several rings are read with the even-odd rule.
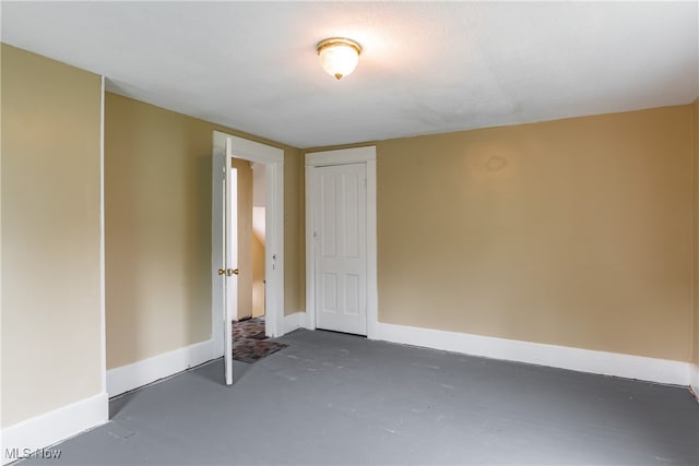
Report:
[[[377,325],[377,339],[580,372],[689,385],[690,365],[682,361],[381,322]]]

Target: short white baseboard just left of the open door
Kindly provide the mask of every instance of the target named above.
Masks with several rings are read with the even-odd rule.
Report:
[[[132,365],[109,369],[107,371],[107,393],[109,393],[109,397],[112,397],[147,385],[156,380],[215,359],[217,357],[215,353],[215,342],[209,339]]]

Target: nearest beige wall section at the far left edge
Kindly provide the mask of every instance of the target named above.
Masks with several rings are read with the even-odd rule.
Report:
[[[102,83],[1,47],[4,428],[103,390]]]

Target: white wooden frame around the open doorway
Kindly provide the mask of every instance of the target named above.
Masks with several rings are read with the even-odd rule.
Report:
[[[265,334],[268,336],[281,336],[284,334],[284,151],[266,144],[249,141],[242,138],[226,134],[221,131],[213,132],[212,163],[212,213],[220,207],[216,205],[216,187],[213,179],[216,172],[223,174],[223,162],[226,150],[226,140],[233,141],[233,154],[236,158],[257,162],[265,165],[266,174],[266,211],[265,211]],[[221,201],[218,201],[220,203]],[[214,357],[224,354],[223,330],[223,296],[216,287],[217,271],[221,262],[221,232],[212,215],[212,248],[211,248],[211,332],[214,340]]]

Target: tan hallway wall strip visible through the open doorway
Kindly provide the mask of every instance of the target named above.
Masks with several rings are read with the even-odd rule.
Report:
[[[252,316],[252,169],[250,162],[233,159],[238,169],[238,316]]]

